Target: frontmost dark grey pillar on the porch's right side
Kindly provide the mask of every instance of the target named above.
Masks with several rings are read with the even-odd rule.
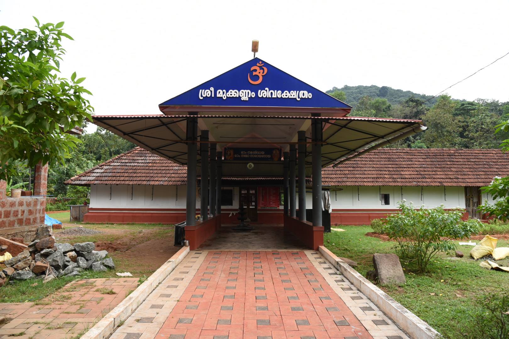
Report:
[[[311,119],[313,163],[313,226],[322,225],[322,121]]]

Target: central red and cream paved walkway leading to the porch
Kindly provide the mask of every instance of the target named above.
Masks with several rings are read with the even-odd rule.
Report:
[[[191,251],[110,339],[408,339],[315,251]]]

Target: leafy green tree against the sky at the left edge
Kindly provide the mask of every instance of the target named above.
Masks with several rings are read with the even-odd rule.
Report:
[[[72,38],[64,22],[37,29],[0,26],[0,179],[14,175],[13,160],[63,163],[79,140],[66,131],[82,125],[93,111],[83,97],[91,95],[74,72],[60,77],[65,55],[61,42]]]

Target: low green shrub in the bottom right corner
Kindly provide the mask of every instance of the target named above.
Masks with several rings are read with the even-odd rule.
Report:
[[[484,295],[477,302],[480,306],[471,312],[470,321],[454,326],[454,331],[469,339],[509,338],[509,291]],[[445,337],[457,335],[445,333]]]

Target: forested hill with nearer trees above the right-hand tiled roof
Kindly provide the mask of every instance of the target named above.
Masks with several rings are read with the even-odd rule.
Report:
[[[418,119],[428,130],[389,147],[498,148],[507,133],[494,134],[509,119],[509,102],[456,100],[393,89],[387,86],[333,87],[327,93],[353,107],[350,116]]]

